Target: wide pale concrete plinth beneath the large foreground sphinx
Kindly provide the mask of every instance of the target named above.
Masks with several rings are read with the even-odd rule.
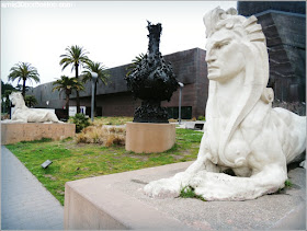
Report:
[[[289,171],[294,186],[247,201],[152,199],[141,188],[192,162],[68,182],[65,229],[266,230],[306,228],[306,172]]]

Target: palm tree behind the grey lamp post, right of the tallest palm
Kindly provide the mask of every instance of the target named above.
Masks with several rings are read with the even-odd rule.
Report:
[[[94,85],[94,116],[96,115],[96,83],[101,81],[104,85],[107,84],[110,80],[110,73],[105,70],[105,67],[101,62],[89,61],[84,67],[84,71],[82,72],[82,82],[86,83],[92,80],[92,72],[98,74],[98,80]]]

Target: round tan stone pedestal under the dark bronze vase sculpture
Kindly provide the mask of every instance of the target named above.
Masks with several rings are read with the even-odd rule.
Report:
[[[126,150],[136,153],[162,152],[173,147],[174,124],[127,123]]]

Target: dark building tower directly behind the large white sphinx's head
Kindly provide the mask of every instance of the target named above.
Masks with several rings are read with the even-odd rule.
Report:
[[[239,1],[237,9],[262,25],[275,99],[306,102],[306,2]]]

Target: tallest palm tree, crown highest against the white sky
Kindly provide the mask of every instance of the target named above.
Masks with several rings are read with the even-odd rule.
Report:
[[[71,71],[75,70],[76,72],[76,79],[78,80],[79,78],[79,66],[83,67],[90,59],[87,56],[87,51],[83,49],[83,47],[79,47],[78,45],[72,45],[66,47],[66,54],[61,55],[60,57],[62,58],[59,61],[59,65],[62,66],[64,70],[67,68],[69,65],[71,65]],[[80,113],[80,97],[79,97],[79,91],[77,90],[77,113]]]

